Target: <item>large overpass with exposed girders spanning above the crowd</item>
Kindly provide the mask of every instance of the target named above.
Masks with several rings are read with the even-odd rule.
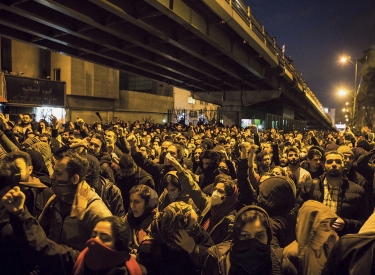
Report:
[[[294,110],[332,129],[275,39],[240,0],[4,0],[0,35],[243,108]]]

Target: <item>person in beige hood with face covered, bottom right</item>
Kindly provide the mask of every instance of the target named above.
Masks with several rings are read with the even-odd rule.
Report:
[[[338,236],[331,228],[337,218],[335,212],[321,202],[306,201],[298,212],[296,240],[284,249],[284,257],[294,265],[297,273],[318,275]]]

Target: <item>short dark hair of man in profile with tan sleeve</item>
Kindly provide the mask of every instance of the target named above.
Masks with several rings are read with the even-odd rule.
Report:
[[[60,155],[55,156],[57,160],[62,160],[64,158],[68,159],[66,164],[66,171],[69,178],[74,175],[79,176],[79,180],[82,181],[86,178],[87,170],[89,168],[89,161],[87,158],[79,155],[77,152],[68,150]]]

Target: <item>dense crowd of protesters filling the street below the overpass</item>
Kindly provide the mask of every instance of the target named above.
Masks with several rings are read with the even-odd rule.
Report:
[[[375,274],[375,141],[0,114],[0,274]]]

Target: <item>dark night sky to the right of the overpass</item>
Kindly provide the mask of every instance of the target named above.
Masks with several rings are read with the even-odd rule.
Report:
[[[375,45],[375,0],[244,2],[277,45],[285,45],[285,55],[324,107],[340,108],[350,100],[337,91],[354,90],[355,66],[338,60],[346,54],[355,61]]]

